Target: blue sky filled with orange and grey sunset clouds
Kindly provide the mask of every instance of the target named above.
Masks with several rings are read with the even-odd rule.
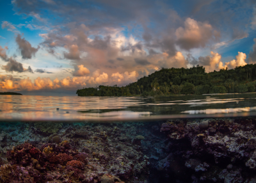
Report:
[[[0,92],[76,95],[256,63],[256,1],[0,1]]]

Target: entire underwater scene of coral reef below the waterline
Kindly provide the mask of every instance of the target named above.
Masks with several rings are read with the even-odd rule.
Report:
[[[256,118],[0,123],[0,182],[256,182]]]

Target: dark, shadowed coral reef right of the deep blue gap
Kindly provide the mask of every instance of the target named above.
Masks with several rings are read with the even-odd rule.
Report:
[[[255,118],[172,120],[161,125],[161,132],[170,139],[168,150],[195,172],[194,181],[251,181],[250,169],[256,169]]]

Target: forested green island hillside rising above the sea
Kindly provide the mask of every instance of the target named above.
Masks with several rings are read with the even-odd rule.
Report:
[[[77,90],[78,96],[154,96],[207,93],[255,92],[256,64],[206,73],[192,68],[162,68],[127,86],[99,86]]]

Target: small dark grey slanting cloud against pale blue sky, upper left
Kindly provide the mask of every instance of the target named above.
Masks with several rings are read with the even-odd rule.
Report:
[[[37,48],[32,47],[31,44],[25,40],[25,38],[21,38],[20,34],[17,35],[15,41],[19,45],[19,50],[23,59],[32,58],[32,56],[35,56],[35,53],[38,51],[38,49],[40,49],[39,46]]]

